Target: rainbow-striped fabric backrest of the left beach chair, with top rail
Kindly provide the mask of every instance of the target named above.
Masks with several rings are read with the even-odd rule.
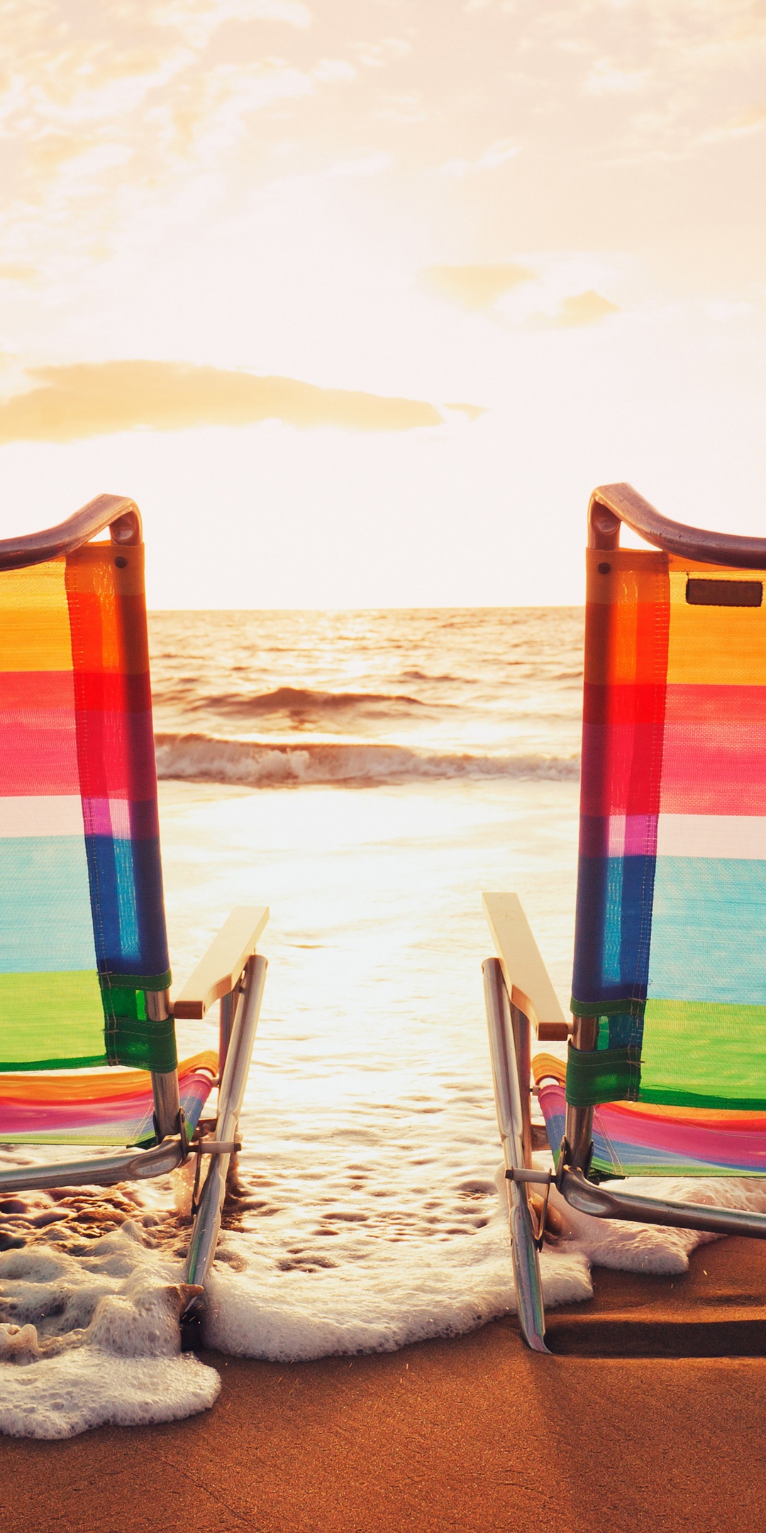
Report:
[[[135,507],[123,535],[0,543],[0,1070],[176,1065]]]

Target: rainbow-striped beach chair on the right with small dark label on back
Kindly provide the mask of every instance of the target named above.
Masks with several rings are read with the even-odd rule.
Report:
[[[620,549],[620,523],[651,547]],[[766,538],[685,527],[608,484],[587,561],[571,1024],[516,895],[484,895],[518,1312],[541,1352],[552,1182],[599,1219],[766,1237],[763,1214],[613,1185],[766,1174]],[[530,1059],[530,1029],[567,1041],[567,1064]],[[530,1088],[553,1173],[532,1167]]]

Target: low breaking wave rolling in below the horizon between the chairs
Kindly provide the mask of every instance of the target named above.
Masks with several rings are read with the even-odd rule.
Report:
[[[579,776],[578,756],[473,756],[334,742],[264,744],[214,734],[156,734],[155,747],[159,777],[251,788],[339,782],[365,786],[453,777],[571,780]]]

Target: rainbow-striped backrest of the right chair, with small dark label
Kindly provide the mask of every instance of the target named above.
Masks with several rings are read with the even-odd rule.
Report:
[[[766,543],[653,517],[665,547],[588,549],[567,1101],[763,1110]]]

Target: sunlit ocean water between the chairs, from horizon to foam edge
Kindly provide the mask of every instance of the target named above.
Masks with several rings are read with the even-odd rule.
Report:
[[[565,992],[581,644],[578,610],[152,619],[179,972],[271,908],[236,1234],[288,1308],[389,1305],[496,1208],[481,889],[524,892]]]

